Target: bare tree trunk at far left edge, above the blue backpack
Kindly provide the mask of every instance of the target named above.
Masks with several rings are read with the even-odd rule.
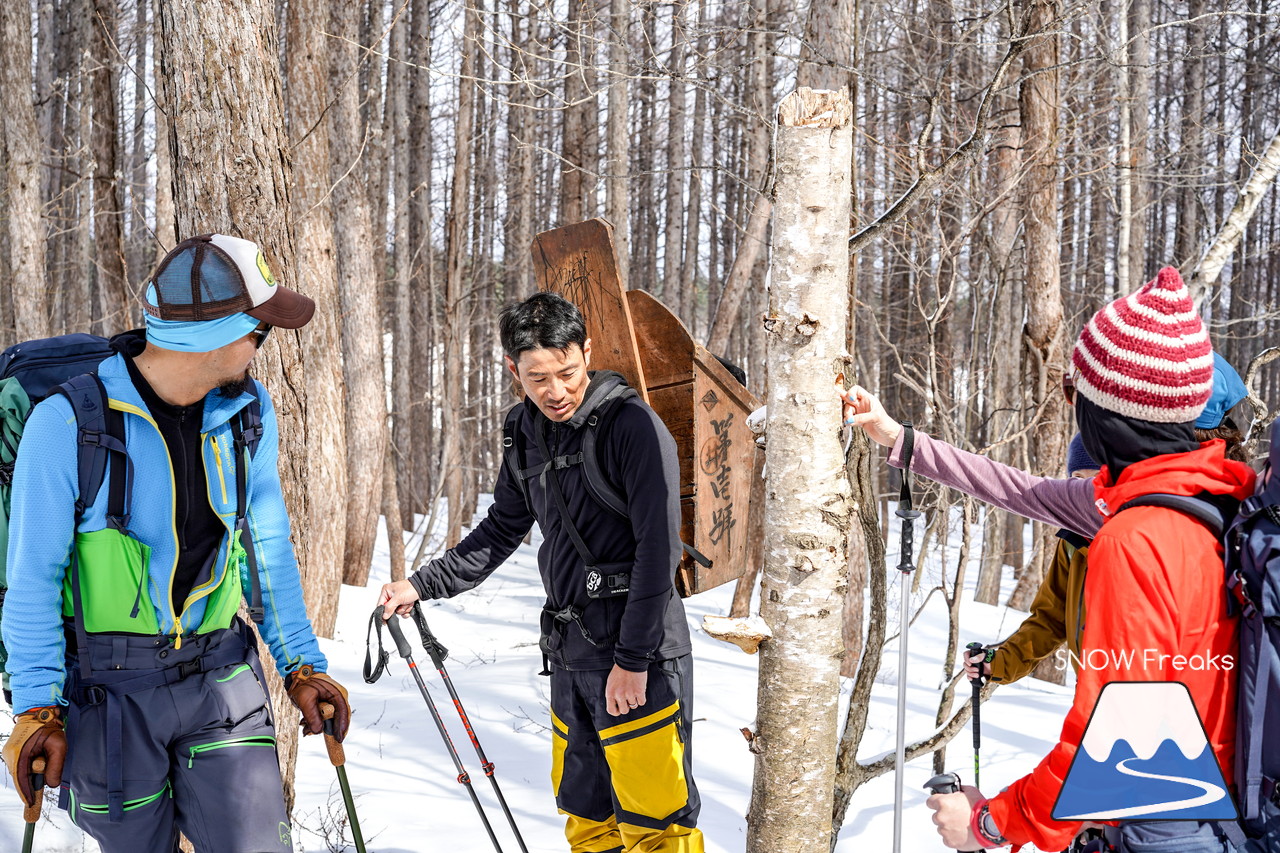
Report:
[[[45,286],[45,223],[40,202],[40,134],[32,101],[31,10],[26,3],[0,3],[0,42],[9,56],[0,68],[4,154],[8,182],[6,237],[18,341],[49,336]]]

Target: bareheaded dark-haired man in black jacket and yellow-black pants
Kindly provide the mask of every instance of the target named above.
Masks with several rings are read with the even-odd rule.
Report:
[[[570,850],[701,853],[689,753],[691,646],[675,590],[676,443],[637,396],[618,396],[622,377],[588,373],[591,342],[571,302],[538,293],[504,309],[499,330],[525,401],[508,421],[516,452],[498,473],[489,515],[408,580],[383,587],[379,603],[388,616],[404,615],[420,598],[474,588],[536,520],[552,788]],[[623,496],[626,517],[588,487],[588,430],[599,430],[595,456]],[[522,461],[512,466],[512,459]]]

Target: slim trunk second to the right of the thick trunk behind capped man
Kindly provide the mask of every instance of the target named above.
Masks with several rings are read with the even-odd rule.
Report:
[[[387,387],[383,378],[381,270],[374,266],[374,225],[362,179],[360,88],[356,73],[360,0],[334,0],[330,28],[333,105],[329,110],[334,248],[342,305],[342,374],[347,419],[347,533],[343,581],[364,587],[374,556],[381,508],[383,452],[387,447]],[[384,240],[383,228],[378,240]]]

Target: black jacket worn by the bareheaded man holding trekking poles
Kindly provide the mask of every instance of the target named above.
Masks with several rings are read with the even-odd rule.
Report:
[[[543,461],[534,430],[544,430],[553,456],[572,455],[582,447],[585,424],[605,393],[622,382],[616,373],[593,373],[582,405],[566,423],[548,420],[525,401],[520,420],[525,466]],[[582,622],[595,644],[573,624],[543,619],[543,648],[550,661],[566,670],[611,669],[644,671],[654,661],[691,651],[685,607],[675,590],[680,561],[680,465],[676,442],[654,411],[639,397],[614,403],[598,435],[600,467],[609,483],[625,496],[622,519],[596,503],[582,479],[582,466],[558,471],[570,516],[588,548],[602,564],[625,564],[631,569],[631,592],[626,597],[591,599]],[[579,601],[585,569],[573,542],[559,520],[549,484],[544,478],[529,482],[534,514],[530,514],[515,474],[506,461],[498,473],[489,515],[457,546],[417,570],[410,580],[422,598],[448,598],[481,583],[512,555],[535,521],[543,530],[538,569],[547,589],[547,610],[559,611]]]

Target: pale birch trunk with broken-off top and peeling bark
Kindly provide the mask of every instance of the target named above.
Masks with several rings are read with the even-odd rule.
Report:
[[[749,853],[810,853],[831,838],[854,508],[832,389],[849,316],[851,114],[844,92],[809,88],[778,110],[760,590],[773,639],[760,649]]]

